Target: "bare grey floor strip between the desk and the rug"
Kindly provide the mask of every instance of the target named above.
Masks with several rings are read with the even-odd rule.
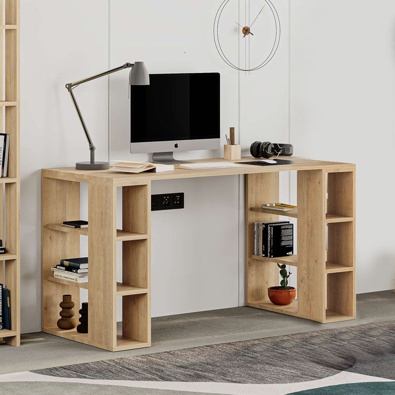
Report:
[[[0,345],[7,361],[0,374],[390,320],[395,320],[395,293],[384,291],[357,295],[357,319],[331,324],[250,307],[157,317],[152,319],[152,347],[117,353],[30,333],[22,336],[21,347]]]

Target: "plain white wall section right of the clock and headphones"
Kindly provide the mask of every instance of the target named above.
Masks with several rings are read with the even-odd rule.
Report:
[[[395,3],[292,0],[290,125],[298,156],[356,163],[357,292],[394,288]]]

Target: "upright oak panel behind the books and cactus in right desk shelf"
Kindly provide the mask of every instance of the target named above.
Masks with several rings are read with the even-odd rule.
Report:
[[[251,211],[262,202],[278,201],[278,172],[248,174],[245,177],[246,194],[246,300],[247,303],[268,301],[268,287],[278,285],[278,270],[274,265],[248,264],[254,250],[254,222],[277,221],[278,215]]]

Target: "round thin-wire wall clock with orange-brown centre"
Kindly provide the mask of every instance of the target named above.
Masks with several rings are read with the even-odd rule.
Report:
[[[255,71],[276,54],[280,19],[270,0],[224,0],[215,15],[213,34],[217,51],[228,66]]]

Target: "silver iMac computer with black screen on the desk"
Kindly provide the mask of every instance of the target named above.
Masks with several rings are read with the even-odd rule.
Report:
[[[220,146],[219,73],[150,74],[131,86],[130,152],[159,163],[185,163],[173,152]]]

